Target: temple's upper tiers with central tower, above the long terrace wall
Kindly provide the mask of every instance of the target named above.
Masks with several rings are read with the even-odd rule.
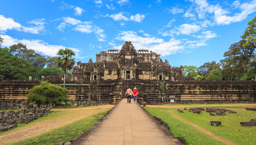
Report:
[[[136,50],[126,41],[121,50],[109,49],[96,54],[96,61],[77,62],[72,69],[73,81],[103,81],[108,79],[179,80],[185,78],[183,67],[172,67],[160,54]]]

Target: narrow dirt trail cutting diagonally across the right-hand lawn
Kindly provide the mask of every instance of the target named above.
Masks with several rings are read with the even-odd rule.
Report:
[[[195,127],[196,129],[198,129],[198,130],[200,130],[201,132],[203,132],[203,133],[205,133],[205,134],[207,134],[207,135],[213,137],[214,139],[219,140],[219,141],[222,141],[222,142],[224,142],[224,143],[227,144],[227,145],[235,145],[233,142],[231,142],[231,141],[229,141],[229,140],[227,140],[227,139],[225,139],[225,138],[223,138],[223,137],[216,136],[216,135],[212,134],[212,133],[209,132],[208,130],[206,130],[206,129],[204,129],[204,128],[202,128],[202,127],[196,125],[196,124],[193,124],[193,123],[189,122],[188,120],[186,120],[186,119],[180,117],[179,115],[176,115],[174,112],[172,112],[172,111],[169,111],[169,112],[170,112],[170,114],[172,114],[173,117],[175,117],[176,119],[179,119],[179,120],[181,120],[182,122],[185,122],[185,123],[187,123],[187,124],[192,125],[192,126]]]

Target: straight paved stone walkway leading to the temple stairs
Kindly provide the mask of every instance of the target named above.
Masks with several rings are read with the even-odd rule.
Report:
[[[166,129],[166,128],[165,128]],[[168,137],[155,119],[139,104],[123,99],[108,116],[90,132],[80,145],[99,144],[178,144],[176,137]]]

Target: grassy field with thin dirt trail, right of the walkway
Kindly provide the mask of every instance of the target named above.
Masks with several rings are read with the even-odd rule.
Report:
[[[237,114],[229,114],[223,116],[210,116],[208,112],[202,111],[201,114],[193,114],[184,107],[192,108],[194,106],[236,109]],[[231,104],[227,104],[231,105]],[[243,106],[246,104],[233,104],[225,106],[222,104],[191,104],[180,105],[175,108],[153,108],[145,107],[145,109],[153,116],[161,118],[167,122],[174,136],[182,136],[186,139],[186,144],[256,144],[256,127],[243,127],[240,122],[249,121],[256,118],[255,111],[244,110],[246,107],[254,108],[256,105]],[[170,104],[169,104],[170,106]],[[180,107],[178,107],[180,106]],[[159,105],[163,107],[163,105]],[[171,107],[174,107],[172,105]],[[179,113],[177,108],[184,112]],[[206,108],[206,107],[202,107]],[[210,121],[221,121],[222,126],[214,127],[210,125]]]

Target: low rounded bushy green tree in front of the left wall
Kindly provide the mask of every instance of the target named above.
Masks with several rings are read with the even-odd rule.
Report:
[[[28,90],[28,103],[36,101],[37,104],[47,102],[61,102],[66,101],[70,96],[67,95],[69,91],[61,86],[48,83],[48,81],[41,81],[40,85],[33,86]]]

